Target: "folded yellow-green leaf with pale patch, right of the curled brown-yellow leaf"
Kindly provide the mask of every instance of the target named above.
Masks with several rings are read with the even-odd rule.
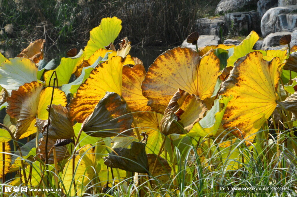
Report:
[[[220,130],[221,121],[225,113],[228,102],[232,97],[223,97],[214,101],[214,106],[207,111],[206,116],[197,122],[192,130],[187,134],[191,137],[211,137],[215,136],[217,132],[223,132]],[[220,106],[224,104],[224,106]]]

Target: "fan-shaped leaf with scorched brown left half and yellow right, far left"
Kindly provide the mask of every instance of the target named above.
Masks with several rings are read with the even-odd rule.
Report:
[[[6,113],[11,118],[16,118],[15,138],[21,139],[28,137],[36,132],[36,118],[48,119],[48,105],[50,105],[53,88],[43,87],[37,81],[26,83],[20,86],[19,89],[13,90],[11,96],[7,97],[8,103]],[[52,104],[66,106],[65,93],[59,89],[54,90]]]

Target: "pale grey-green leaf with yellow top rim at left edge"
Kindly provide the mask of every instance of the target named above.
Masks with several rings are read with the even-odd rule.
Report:
[[[9,95],[12,90],[17,90],[21,85],[31,81],[37,81],[37,66],[33,61],[15,57],[1,64],[0,85]]]

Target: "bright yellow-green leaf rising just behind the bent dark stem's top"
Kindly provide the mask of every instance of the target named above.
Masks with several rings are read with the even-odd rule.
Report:
[[[75,73],[75,71],[78,69],[78,66],[80,65],[79,63],[82,61],[83,56],[83,50],[80,50],[78,55],[75,57],[63,57],[61,59],[60,65],[56,69],[44,73],[45,84],[48,85],[50,83],[50,85],[53,86],[53,79],[50,82],[50,77],[54,71],[57,73],[59,86],[68,84],[72,73]],[[55,75],[53,77],[55,77]]]

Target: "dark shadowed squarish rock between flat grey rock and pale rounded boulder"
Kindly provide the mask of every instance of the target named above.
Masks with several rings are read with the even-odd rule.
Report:
[[[258,12],[232,12],[225,14],[225,18],[228,30],[234,31],[234,36],[248,35],[251,31],[261,34]]]

